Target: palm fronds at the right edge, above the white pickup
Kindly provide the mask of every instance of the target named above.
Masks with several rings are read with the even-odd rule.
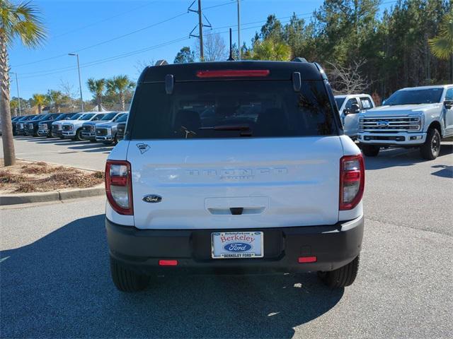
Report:
[[[439,35],[429,40],[432,54],[438,59],[452,59],[453,80],[453,12],[445,14],[440,24]]]

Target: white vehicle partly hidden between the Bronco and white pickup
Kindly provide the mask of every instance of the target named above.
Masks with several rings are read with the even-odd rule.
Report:
[[[376,107],[373,98],[367,94],[336,95],[335,101],[345,134],[356,140],[359,132],[359,113]]]

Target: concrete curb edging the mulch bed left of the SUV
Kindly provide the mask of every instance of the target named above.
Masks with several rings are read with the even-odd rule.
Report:
[[[47,201],[63,201],[76,198],[87,198],[88,196],[103,196],[104,185],[89,187],[88,189],[62,189],[60,191],[5,194],[0,196],[0,206],[17,205],[19,203],[42,203]]]

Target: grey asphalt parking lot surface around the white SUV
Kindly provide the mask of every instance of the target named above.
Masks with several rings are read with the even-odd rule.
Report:
[[[16,142],[18,157],[102,169],[108,153],[29,140]],[[104,198],[3,207],[1,337],[451,338],[453,143],[433,161],[383,150],[366,168],[359,275],[334,291],[313,274],[200,275],[122,294],[110,281]]]

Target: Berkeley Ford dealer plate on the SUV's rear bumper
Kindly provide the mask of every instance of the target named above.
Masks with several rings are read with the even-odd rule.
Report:
[[[263,232],[211,233],[212,258],[263,258]]]

